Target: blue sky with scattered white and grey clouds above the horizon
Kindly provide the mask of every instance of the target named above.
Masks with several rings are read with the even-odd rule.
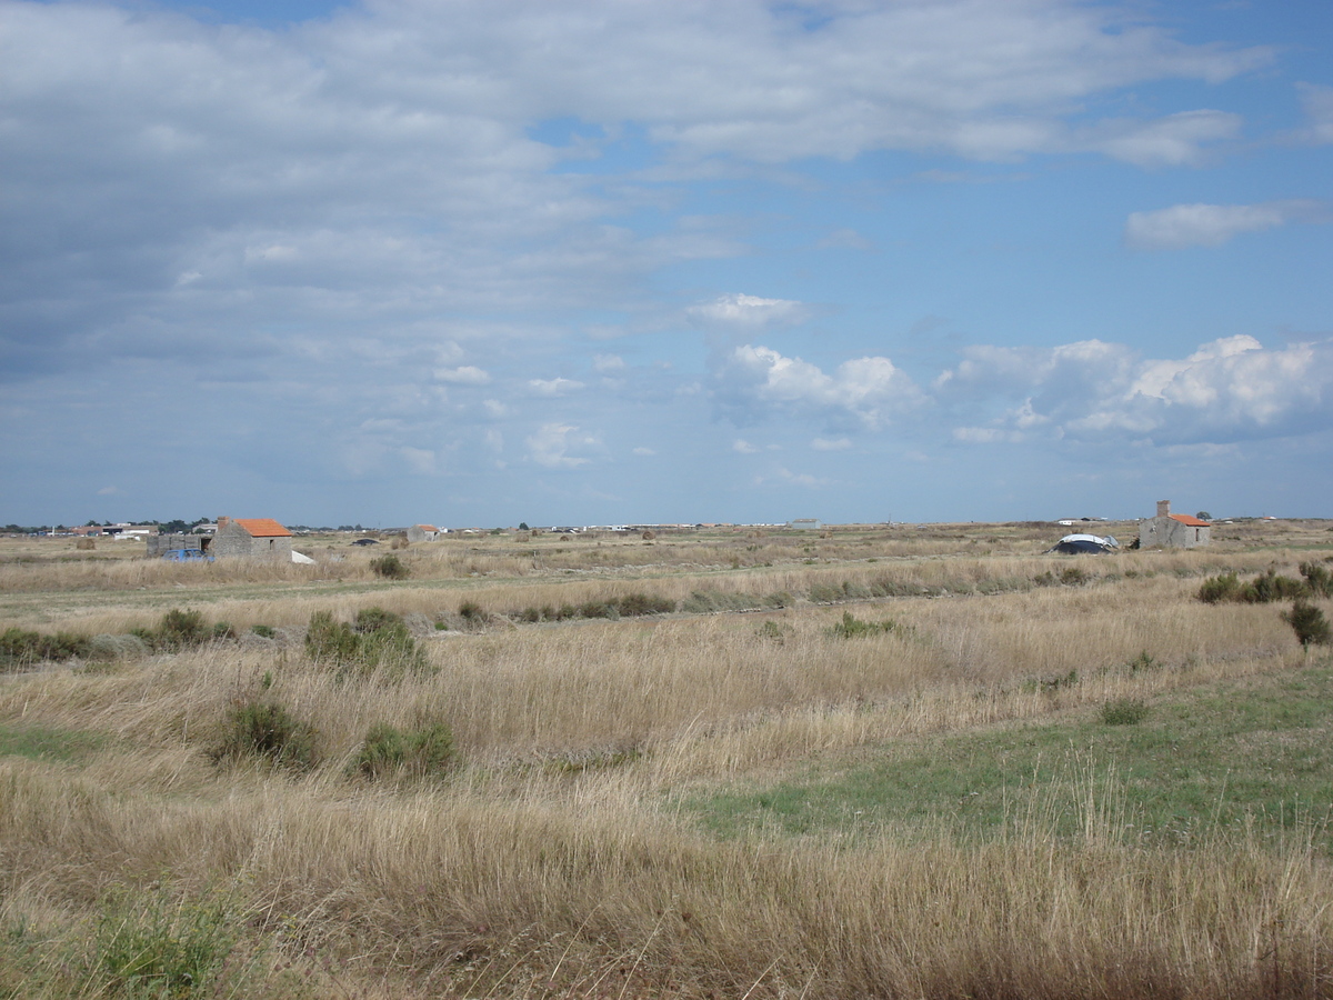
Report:
[[[1326,0],[0,0],[0,523],[1333,516]]]

